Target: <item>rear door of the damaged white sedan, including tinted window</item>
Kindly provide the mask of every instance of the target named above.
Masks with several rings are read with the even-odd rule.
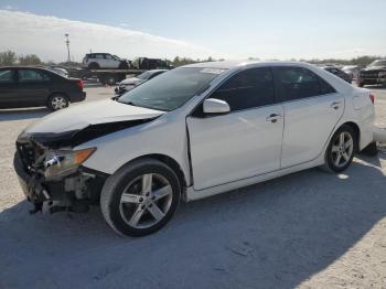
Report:
[[[343,115],[344,97],[307,68],[285,66],[274,71],[285,108],[281,168],[288,168],[323,153]]]

